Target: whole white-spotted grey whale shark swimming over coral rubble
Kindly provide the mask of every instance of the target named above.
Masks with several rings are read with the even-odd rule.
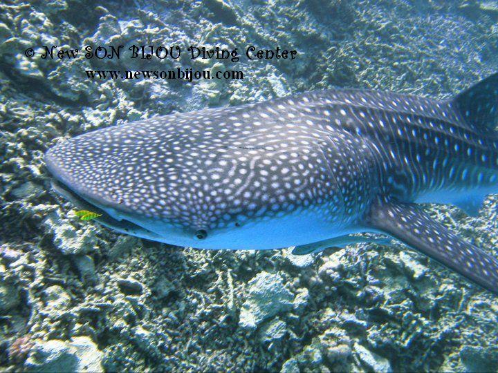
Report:
[[[445,100],[333,88],[102,128],[45,162],[59,194],[121,233],[294,254],[382,233],[498,294],[490,248],[419,205],[475,215],[497,192],[497,107],[498,74]]]

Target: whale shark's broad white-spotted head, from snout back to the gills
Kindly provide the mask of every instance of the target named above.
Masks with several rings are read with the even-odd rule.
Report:
[[[257,137],[236,122],[243,113],[216,126],[195,114],[104,128],[54,146],[46,165],[57,190],[97,209],[108,227],[178,246],[271,249],[342,227],[344,198],[317,143],[298,142],[296,127],[279,137],[261,128]]]

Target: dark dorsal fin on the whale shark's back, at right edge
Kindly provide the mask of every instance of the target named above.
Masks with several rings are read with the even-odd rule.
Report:
[[[453,104],[469,124],[494,130],[498,124],[498,73],[459,93]]]

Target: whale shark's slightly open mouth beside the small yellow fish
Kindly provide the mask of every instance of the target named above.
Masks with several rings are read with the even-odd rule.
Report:
[[[140,225],[130,222],[129,220],[117,220],[113,218],[104,209],[101,209],[91,201],[82,198],[82,196],[78,195],[77,193],[66,187],[66,185],[62,184],[62,182],[52,180],[51,184],[52,189],[55,191],[55,193],[59,194],[60,196],[62,196],[62,198],[74,204],[77,209],[89,210],[98,213],[100,216],[93,220],[98,221],[105,227],[114,229],[115,231],[118,231],[120,233],[131,234],[133,236],[148,238],[151,240],[158,240],[158,234],[140,227]]]

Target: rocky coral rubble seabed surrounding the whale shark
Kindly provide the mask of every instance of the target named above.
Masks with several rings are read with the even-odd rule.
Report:
[[[331,86],[450,97],[498,70],[497,21],[498,1],[2,0],[0,370],[497,372],[497,298],[403,245],[298,258],[120,236],[75,219],[42,158],[95,128]],[[246,73],[194,84],[83,75],[150,61],[23,55],[133,42],[299,55],[185,59]],[[488,198],[477,218],[429,208],[496,255],[497,204]]]

